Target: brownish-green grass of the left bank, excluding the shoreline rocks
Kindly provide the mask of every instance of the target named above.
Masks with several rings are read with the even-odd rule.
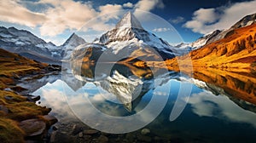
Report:
[[[20,120],[40,117],[49,112],[49,109],[45,107],[26,101],[26,97],[20,94],[3,90],[13,87],[15,78],[38,73],[46,66],[48,65],[0,49],[0,106],[5,106],[9,110],[8,113],[0,111],[1,142],[23,142],[24,131],[17,123]],[[6,96],[11,100],[6,99]]]

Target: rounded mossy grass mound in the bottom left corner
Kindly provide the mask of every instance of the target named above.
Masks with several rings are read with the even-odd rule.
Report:
[[[22,143],[25,142],[23,136],[24,132],[15,121],[0,117],[0,140],[2,143]]]

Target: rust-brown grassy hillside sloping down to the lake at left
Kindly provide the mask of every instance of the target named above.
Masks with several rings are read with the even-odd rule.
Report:
[[[0,49],[0,140],[1,142],[23,142],[25,136],[29,136],[41,129],[44,115],[50,112],[49,108],[37,106],[38,100],[29,94],[20,94],[26,89],[17,86],[16,83],[22,77],[41,77],[53,70],[52,66],[29,60],[19,54],[10,53]],[[21,125],[23,121],[32,119],[39,127],[33,130],[33,125]],[[24,123],[24,122],[23,122]],[[38,126],[37,125],[37,126]],[[38,132],[40,133],[40,132]]]

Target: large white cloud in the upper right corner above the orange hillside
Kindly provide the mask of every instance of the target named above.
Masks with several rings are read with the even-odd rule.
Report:
[[[198,9],[192,20],[183,26],[201,34],[217,29],[228,29],[247,14],[255,13],[256,0],[251,2],[233,3],[228,7],[215,9]]]

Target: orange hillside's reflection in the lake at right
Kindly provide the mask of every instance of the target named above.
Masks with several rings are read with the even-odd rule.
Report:
[[[253,73],[195,68],[193,76],[207,83],[207,88],[216,94],[226,94],[256,105],[256,75]]]

